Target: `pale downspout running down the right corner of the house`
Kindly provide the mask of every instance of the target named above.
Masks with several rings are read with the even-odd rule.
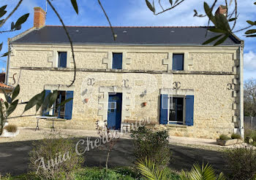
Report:
[[[239,81],[240,81],[240,125],[239,131],[242,138],[244,138],[244,41],[241,41],[241,46],[239,47]]]

